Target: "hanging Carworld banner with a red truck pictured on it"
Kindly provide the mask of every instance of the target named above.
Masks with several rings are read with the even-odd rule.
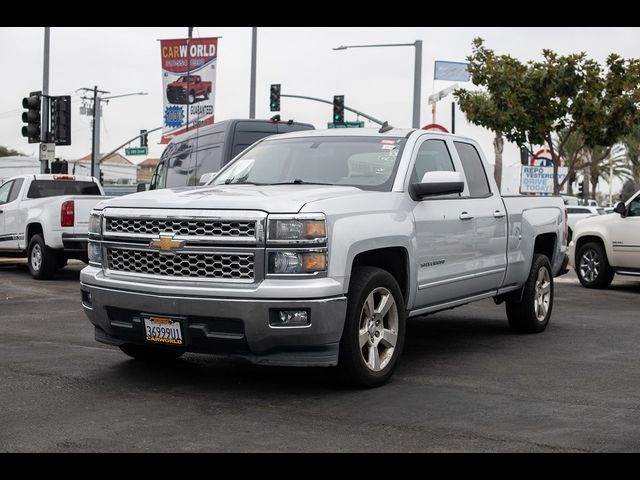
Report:
[[[164,97],[162,139],[215,120],[218,38],[160,40]]]

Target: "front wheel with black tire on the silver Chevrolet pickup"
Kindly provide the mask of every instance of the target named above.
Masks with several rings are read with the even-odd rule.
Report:
[[[394,301],[388,312],[382,317],[378,315],[378,319],[375,315],[370,321],[366,318],[363,319],[362,316],[366,316],[370,311],[368,306],[365,309],[365,302],[369,295],[373,294],[375,310],[379,306],[379,304],[376,306],[376,299],[381,301],[386,296],[385,292],[388,292]],[[406,309],[402,292],[398,282],[386,270],[375,267],[359,267],[353,272],[347,297],[347,315],[340,339],[338,369],[343,379],[351,385],[366,388],[378,387],[391,378],[402,354],[406,324]],[[371,315],[369,316],[371,317]],[[368,322],[368,329],[361,330],[361,320]],[[365,325],[362,326],[365,327]],[[390,343],[393,341],[393,337],[385,338],[385,332],[390,331],[396,333],[393,349],[391,349]],[[363,338],[366,338],[366,343],[362,344],[362,347],[360,346],[361,332],[365,332]],[[374,348],[374,343],[375,352],[372,354],[373,356],[369,356],[371,349]],[[382,345],[380,350],[378,345]],[[379,362],[379,370],[367,366],[364,359],[365,350],[372,365],[375,366],[376,360]]]

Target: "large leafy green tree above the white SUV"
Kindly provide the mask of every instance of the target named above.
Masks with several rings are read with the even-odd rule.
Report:
[[[555,153],[573,133],[585,146],[611,147],[640,119],[640,62],[611,54],[605,70],[584,52],[560,56],[545,49],[542,54],[542,61],[524,64],[496,55],[476,38],[468,70],[482,90],[458,89],[454,95],[472,123],[530,152],[533,145],[547,143],[557,194],[575,167],[570,163],[569,175],[559,182]],[[560,138],[555,145],[554,137]]]

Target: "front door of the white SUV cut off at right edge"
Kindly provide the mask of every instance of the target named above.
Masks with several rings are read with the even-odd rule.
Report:
[[[617,213],[610,223],[613,258],[611,264],[620,269],[640,269],[640,193],[627,205],[627,216]]]

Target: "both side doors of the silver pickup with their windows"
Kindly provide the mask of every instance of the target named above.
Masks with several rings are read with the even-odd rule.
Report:
[[[506,268],[506,212],[489,187],[476,148],[425,136],[418,140],[412,161],[410,183],[438,170],[458,171],[465,178],[462,194],[427,197],[415,204],[416,307],[497,290]]]

